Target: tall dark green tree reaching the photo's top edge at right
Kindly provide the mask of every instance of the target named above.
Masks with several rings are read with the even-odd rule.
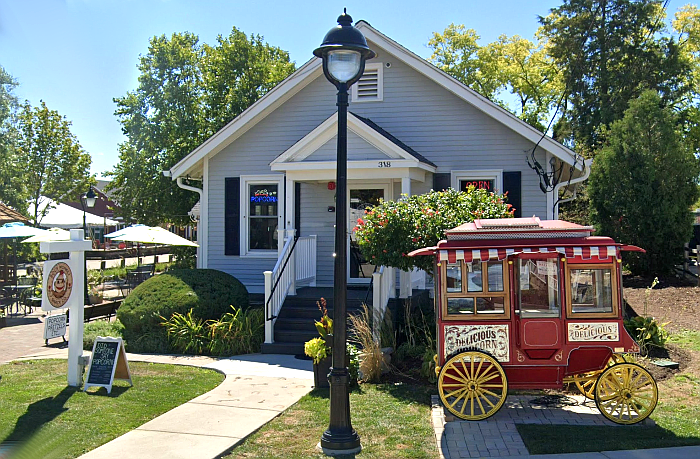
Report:
[[[664,34],[665,14],[660,0],[564,0],[540,17],[538,33],[563,75],[577,150],[594,154],[643,91],[672,105],[691,90],[691,65]]]

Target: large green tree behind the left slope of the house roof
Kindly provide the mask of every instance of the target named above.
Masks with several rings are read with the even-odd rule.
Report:
[[[197,195],[162,171],[290,75],[294,64],[286,51],[234,27],[215,46],[191,33],[154,37],[138,68],[138,88],[114,100],[128,140],[109,189],[128,220],[183,223]]]

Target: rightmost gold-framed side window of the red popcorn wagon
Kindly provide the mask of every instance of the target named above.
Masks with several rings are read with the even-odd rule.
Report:
[[[612,313],[613,282],[610,268],[569,269],[571,312]]]

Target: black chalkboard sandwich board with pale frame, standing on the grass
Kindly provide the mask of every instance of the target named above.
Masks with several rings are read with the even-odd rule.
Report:
[[[83,390],[87,391],[92,386],[105,387],[107,393],[111,394],[115,379],[123,379],[134,385],[131,382],[124,343],[121,338],[98,336],[92,345],[92,358]]]

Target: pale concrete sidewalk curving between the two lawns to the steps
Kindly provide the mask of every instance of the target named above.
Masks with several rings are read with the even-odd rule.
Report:
[[[67,358],[65,349],[26,358]],[[208,459],[232,449],[311,391],[312,363],[289,355],[229,359],[127,354],[131,362],[211,368],[226,375],[215,389],[81,456],[82,459]]]

